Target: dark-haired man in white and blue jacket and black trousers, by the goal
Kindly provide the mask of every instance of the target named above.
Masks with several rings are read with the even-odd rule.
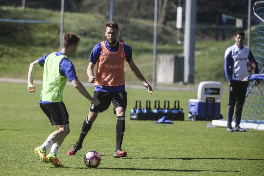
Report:
[[[244,132],[246,130],[239,127],[243,104],[247,92],[248,82],[242,82],[242,79],[248,76],[247,59],[256,64],[255,73],[259,73],[258,65],[253,57],[251,50],[244,45],[245,33],[237,31],[235,33],[235,44],[225,51],[225,75],[229,82],[229,102],[227,107],[227,131],[233,132],[231,127],[232,117],[235,110],[235,131]],[[256,81],[258,85],[259,81]]]

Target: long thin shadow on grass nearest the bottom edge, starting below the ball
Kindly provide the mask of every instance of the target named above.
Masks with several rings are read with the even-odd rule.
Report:
[[[88,168],[71,168],[88,169]],[[173,171],[173,172],[239,172],[237,170],[195,170],[195,169],[140,169],[140,168],[89,168],[89,169],[108,169],[108,170],[148,170],[148,171]]]

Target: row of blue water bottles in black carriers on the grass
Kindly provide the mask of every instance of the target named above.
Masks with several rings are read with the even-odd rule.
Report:
[[[155,100],[153,110],[150,100],[146,101],[146,107],[141,106],[141,101],[136,100],[135,107],[131,109],[131,120],[158,120],[166,115],[169,120],[184,120],[183,109],[180,108],[180,101],[174,101],[174,107],[170,108],[169,101],[164,101],[163,108],[159,100]]]

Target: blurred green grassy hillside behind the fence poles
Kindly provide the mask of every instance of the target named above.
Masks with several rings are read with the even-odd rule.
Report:
[[[46,9],[1,7],[0,18],[20,20],[51,20],[52,23],[0,22],[0,74],[1,77],[27,78],[29,64],[37,58],[59,50],[60,12]],[[73,58],[80,80],[86,81],[86,69],[93,46],[105,39],[104,17],[90,13],[64,15],[64,31],[81,36],[81,43]],[[131,25],[133,24],[133,25]],[[120,24],[124,42],[133,50],[133,60],[149,83],[153,66],[153,21],[131,19],[130,26]],[[176,30],[169,26],[158,27],[157,54],[181,54],[183,44],[175,40]],[[254,34],[252,34],[254,35]],[[181,36],[183,38],[183,36]],[[118,39],[120,40],[120,39]],[[220,81],[226,83],[223,71],[224,52],[234,43],[228,41],[196,41],[195,83]],[[126,67],[128,69],[128,67]],[[41,79],[39,69],[35,79]],[[127,84],[141,84],[132,72],[126,72]],[[157,84],[159,86],[159,84]],[[178,84],[177,84],[178,85]],[[175,86],[175,85],[166,85]]]

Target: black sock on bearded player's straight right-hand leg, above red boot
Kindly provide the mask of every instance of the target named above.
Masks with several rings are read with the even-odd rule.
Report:
[[[116,150],[121,149],[124,132],[125,132],[125,116],[117,116],[116,122]]]

